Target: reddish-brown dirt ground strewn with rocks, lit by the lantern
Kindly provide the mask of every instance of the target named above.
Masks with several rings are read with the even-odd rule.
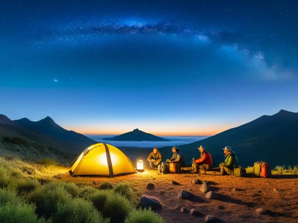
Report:
[[[206,215],[213,215],[221,222],[298,222],[298,175],[273,175],[272,178],[236,178],[234,176],[219,176],[215,172],[204,174],[164,174],[145,170],[140,174],[103,177],[71,177],[63,175],[62,180],[68,182],[93,185],[93,180],[100,185],[104,181],[112,183],[129,182],[138,188],[143,196],[159,200],[163,206],[157,210],[166,222],[205,222]],[[193,184],[192,179],[209,181],[210,190],[220,194],[217,199],[206,199],[206,194],[200,191],[201,185]],[[172,180],[181,185],[173,185]],[[146,190],[146,185],[153,183],[155,189]],[[182,190],[197,196],[195,201],[178,199]],[[161,195],[160,191],[164,191]],[[187,209],[195,208],[203,216],[195,217],[189,213],[181,213],[183,205]],[[267,215],[257,215],[256,209],[264,208],[271,211]]]

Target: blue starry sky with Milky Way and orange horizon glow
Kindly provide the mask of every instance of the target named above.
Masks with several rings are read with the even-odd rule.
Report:
[[[298,112],[298,2],[0,2],[0,113],[210,136]]]

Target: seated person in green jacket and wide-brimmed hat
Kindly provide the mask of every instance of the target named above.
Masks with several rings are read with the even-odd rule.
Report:
[[[223,163],[219,164],[221,168],[220,175],[228,174],[234,175],[234,169],[239,167],[238,158],[235,153],[232,151],[231,147],[226,146],[224,147],[224,154],[226,159]]]

